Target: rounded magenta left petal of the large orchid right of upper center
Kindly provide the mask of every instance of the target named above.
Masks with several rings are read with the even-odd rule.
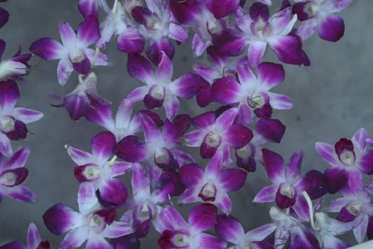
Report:
[[[223,77],[215,80],[211,88],[212,95],[220,104],[227,105],[239,102],[241,86],[232,77]]]

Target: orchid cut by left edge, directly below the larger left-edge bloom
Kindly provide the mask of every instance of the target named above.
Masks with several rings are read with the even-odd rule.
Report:
[[[0,154],[0,202],[4,196],[28,203],[36,201],[35,194],[21,185],[28,176],[28,170],[23,167],[28,154],[30,151],[25,147],[14,152],[8,161],[3,161]]]

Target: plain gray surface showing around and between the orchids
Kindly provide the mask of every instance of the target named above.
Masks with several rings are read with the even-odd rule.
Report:
[[[0,29],[0,38],[8,42],[4,58],[11,56],[19,45],[26,51],[40,37],[50,36],[60,41],[58,21],[69,21],[73,27],[81,21],[76,2],[11,0],[1,4],[11,14],[9,23]],[[341,41],[328,43],[315,35],[304,44],[312,65],[308,68],[285,65],[286,80],[275,91],[291,97],[295,106],[292,110],[275,112],[275,117],[286,124],[286,134],[281,144],[271,149],[280,152],[286,159],[296,149],[303,149],[303,171],[312,168],[323,171],[327,166],[316,154],[315,142],[334,143],[340,137],[351,137],[360,127],[365,127],[373,135],[372,14],[373,1],[354,1],[350,8],[340,13],[346,26]],[[126,55],[118,52],[115,46],[112,43],[105,51],[111,65],[94,69],[99,79],[99,92],[112,100],[114,109],[122,97],[140,85],[124,73]],[[268,60],[274,60],[271,54],[269,52]],[[39,58],[33,58],[31,63],[38,61]],[[202,61],[205,60],[193,58],[190,46],[176,47],[174,78],[191,70],[193,63]],[[57,248],[63,236],[49,233],[41,216],[58,202],[77,209],[79,184],[72,174],[75,164],[63,146],[72,144],[90,151],[90,139],[101,128],[85,120],[74,122],[63,108],[50,106],[51,92],[70,92],[77,83],[77,75],[73,74],[67,85],[60,88],[56,79],[57,63],[42,62],[38,70],[26,77],[27,83],[20,86],[21,100],[18,106],[40,110],[45,114],[42,120],[28,126],[35,135],[29,135],[26,141],[13,143],[13,149],[23,144],[31,149],[26,163],[29,176],[25,184],[38,196],[38,201],[27,204],[4,198],[0,203],[0,245],[8,240],[25,241],[28,224],[34,222],[42,237]],[[195,108],[195,100],[183,104],[181,112],[201,112]],[[232,214],[242,221],[245,231],[269,221],[269,206],[252,203],[256,192],[267,184],[269,180],[259,166],[256,173],[249,174],[244,188],[230,194],[234,203]],[[146,240],[154,240],[155,235],[151,233]],[[149,248],[146,245],[149,244],[144,244],[144,248]]]

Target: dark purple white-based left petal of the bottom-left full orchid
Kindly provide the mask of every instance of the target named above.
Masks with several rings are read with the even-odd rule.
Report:
[[[58,203],[43,214],[43,221],[48,230],[55,235],[62,235],[80,226],[82,216],[71,208]]]

